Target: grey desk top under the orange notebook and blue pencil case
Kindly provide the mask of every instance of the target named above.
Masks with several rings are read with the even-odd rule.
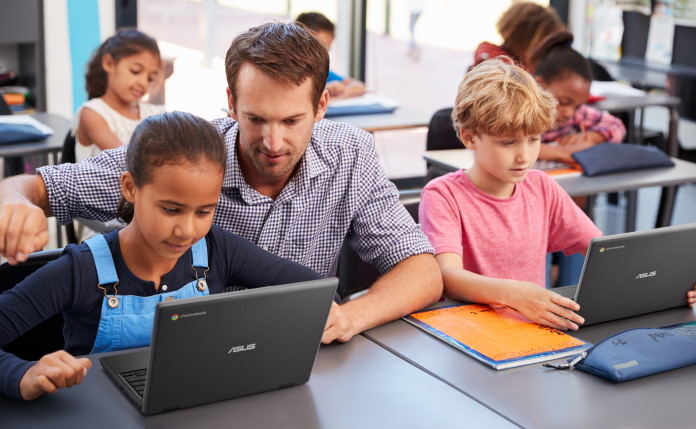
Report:
[[[596,343],[626,329],[693,320],[694,311],[681,307],[588,326],[573,335]],[[613,383],[541,364],[496,371],[403,320],[363,335],[522,427],[696,427],[696,365]]]

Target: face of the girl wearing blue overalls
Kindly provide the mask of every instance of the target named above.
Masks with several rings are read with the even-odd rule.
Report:
[[[135,206],[128,225],[142,243],[139,255],[149,260],[176,261],[210,230],[222,188],[223,170],[210,161],[155,167],[151,181],[138,187],[123,173],[121,187]]]

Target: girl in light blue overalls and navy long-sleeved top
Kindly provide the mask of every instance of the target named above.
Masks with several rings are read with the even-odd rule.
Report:
[[[54,314],[65,319],[65,351],[38,362],[0,351],[0,393],[35,399],[82,381],[90,362],[75,355],[149,345],[157,302],[320,278],[211,227],[226,158],[221,136],[196,116],[138,126],[121,176],[128,226],[68,246],[0,295],[0,346]]]

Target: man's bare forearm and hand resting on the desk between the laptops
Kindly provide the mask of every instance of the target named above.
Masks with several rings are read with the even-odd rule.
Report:
[[[396,264],[366,295],[341,306],[333,304],[322,342],[348,341],[367,329],[390,322],[435,302],[442,295],[442,276],[430,253]]]

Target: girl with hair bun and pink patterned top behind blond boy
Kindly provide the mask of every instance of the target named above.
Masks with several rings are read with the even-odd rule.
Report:
[[[587,106],[592,70],[580,53],[571,48],[567,31],[547,37],[534,51],[534,74],[543,88],[558,100],[554,129],[545,132],[539,159],[573,162],[572,154],[598,143],[620,143],[626,137],[623,122],[609,112]]]

